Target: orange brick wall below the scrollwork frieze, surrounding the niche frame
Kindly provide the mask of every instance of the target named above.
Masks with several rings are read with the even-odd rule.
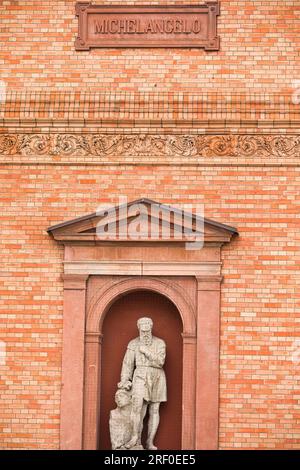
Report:
[[[299,169],[282,168],[3,168],[1,446],[59,445],[63,252],[45,228],[117,202],[120,190],[129,199],[205,200],[207,215],[239,228],[223,249],[220,446],[299,447],[299,180]]]

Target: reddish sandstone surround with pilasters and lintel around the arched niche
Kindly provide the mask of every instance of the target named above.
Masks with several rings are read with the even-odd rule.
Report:
[[[218,449],[220,254],[236,229],[205,219],[204,247],[191,253],[171,240],[91,243],[95,217],[48,229],[65,245],[60,448],[97,449],[103,320],[120,296],[148,290],[182,319],[182,449]],[[103,282],[87,302],[93,276]]]

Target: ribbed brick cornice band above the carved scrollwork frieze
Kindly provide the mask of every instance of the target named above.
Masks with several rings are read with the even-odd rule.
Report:
[[[291,93],[103,92],[101,90],[7,90],[0,120],[53,119],[173,121],[294,121],[299,105]]]

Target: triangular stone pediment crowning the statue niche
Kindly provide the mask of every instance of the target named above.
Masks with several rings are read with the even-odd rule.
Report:
[[[138,199],[101,209],[48,228],[61,242],[194,242],[225,243],[237,234],[234,227],[207,219],[193,208],[171,207]]]

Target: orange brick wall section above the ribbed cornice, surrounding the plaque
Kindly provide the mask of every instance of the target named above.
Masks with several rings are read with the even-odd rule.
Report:
[[[1,0],[1,4],[1,78],[13,88],[96,86],[109,90],[195,92],[222,87],[281,92],[290,89],[292,80],[299,77],[295,54],[298,0],[222,0],[218,27],[221,50],[210,53],[188,49],[76,52],[75,0]]]

